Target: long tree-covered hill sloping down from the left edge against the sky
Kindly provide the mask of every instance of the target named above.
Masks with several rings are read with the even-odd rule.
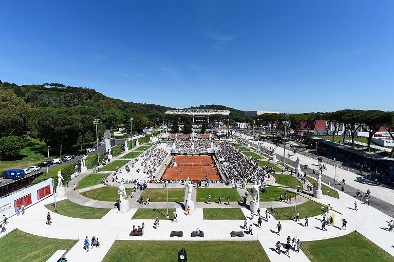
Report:
[[[50,86],[50,87],[47,87]],[[174,108],[154,105],[124,102],[110,98],[86,87],[64,86],[62,84],[22,85],[0,81],[0,89],[13,89],[17,96],[23,97],[32,107],[61,107],[61,106],[95,106],[102,109],[117,108],[136,114],[164,114]]]

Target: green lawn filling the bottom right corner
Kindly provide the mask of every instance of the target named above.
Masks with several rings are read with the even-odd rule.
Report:
[[[304,241],[301,249],[311,261],[394,261],[389,253],[357,231],[336,238]]]

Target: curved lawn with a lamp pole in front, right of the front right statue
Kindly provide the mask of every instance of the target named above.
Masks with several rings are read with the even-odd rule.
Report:
[[[288,220],[294,218],[294,199],[293,205],[287,208],[276,208],[274,209],[275,214],[273,215],[276,220]],[[312,217],[321,215],[323,210],[326,210],[325,207],[322,207],[321,204],[313,202],[311,200],[298,204],[296,210],[299,213],[299,218],[305,218],[305,216]]]

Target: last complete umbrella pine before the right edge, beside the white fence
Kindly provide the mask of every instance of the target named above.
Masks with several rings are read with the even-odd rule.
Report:
[[[368,125],[368,143],[367,150],[371,149],[371,139],[376,132],[389,120],[389,115],[381,110],[366,110],[363,113],[363,123]]]

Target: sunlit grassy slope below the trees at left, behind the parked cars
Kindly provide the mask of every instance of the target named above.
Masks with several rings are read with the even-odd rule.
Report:
[[[0,174],[8,169],[25,169],[48,160],[48,155],[45,154],[47,147],[44,142],[28,136],[26,139],[27,146],[22,148],[19,156],[13,160],[0,161]]]

